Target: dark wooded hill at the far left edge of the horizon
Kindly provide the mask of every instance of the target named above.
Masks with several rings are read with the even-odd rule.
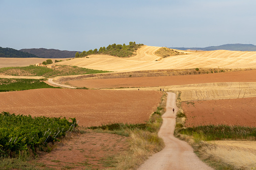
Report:
[[[2,48],[0,47],[0,57],[2,58],[38,58],[34,54],[25,53],[12,48]]]

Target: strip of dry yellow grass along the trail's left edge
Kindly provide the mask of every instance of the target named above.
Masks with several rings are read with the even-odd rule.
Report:
[[[164,94],[159,108],[165,108],[166,95]],[[160,111],[163,114],[165,109]],[[142,164],[150,155],[160,151],[164,147],[164,142],[158,137],[157,132],[162,124],[159,114],[153,114],[149,126],[154,127],[154,132],[139,129],[130,130],[130,149],[126,154],[120,155],[118,165],[115,169],[135,169]]]

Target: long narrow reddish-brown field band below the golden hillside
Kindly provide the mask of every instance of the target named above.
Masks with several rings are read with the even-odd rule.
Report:
[[[256,82],[256,70],[184,76],[130,77],[68,81],[71,86],[87,88],[157,87],[214,82]]]

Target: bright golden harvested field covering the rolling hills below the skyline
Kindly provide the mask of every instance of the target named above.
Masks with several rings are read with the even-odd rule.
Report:
[[[160,47],[144,46],[137,51],[137,56],[117,58],[106,55],[91,55],[89,58],[76,58],[59,62],[71,65],[106,71],[140,71],[160,69],[190,68],[256,68],[256,52],[241,51],[204,51],[187,55],[170,56],[160,61],[154,51]],[[184,53],[186,53],[184,51]]]

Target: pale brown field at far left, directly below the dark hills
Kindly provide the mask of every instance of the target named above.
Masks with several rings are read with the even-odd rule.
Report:
[[[53,62],[55,60],[67,60],[64,59],[51,59]],[[0,58],[0,68],[3,67],[25,67],[29,65],[34,65],[36,63],[42,63],[48,60],[47,58]]]

